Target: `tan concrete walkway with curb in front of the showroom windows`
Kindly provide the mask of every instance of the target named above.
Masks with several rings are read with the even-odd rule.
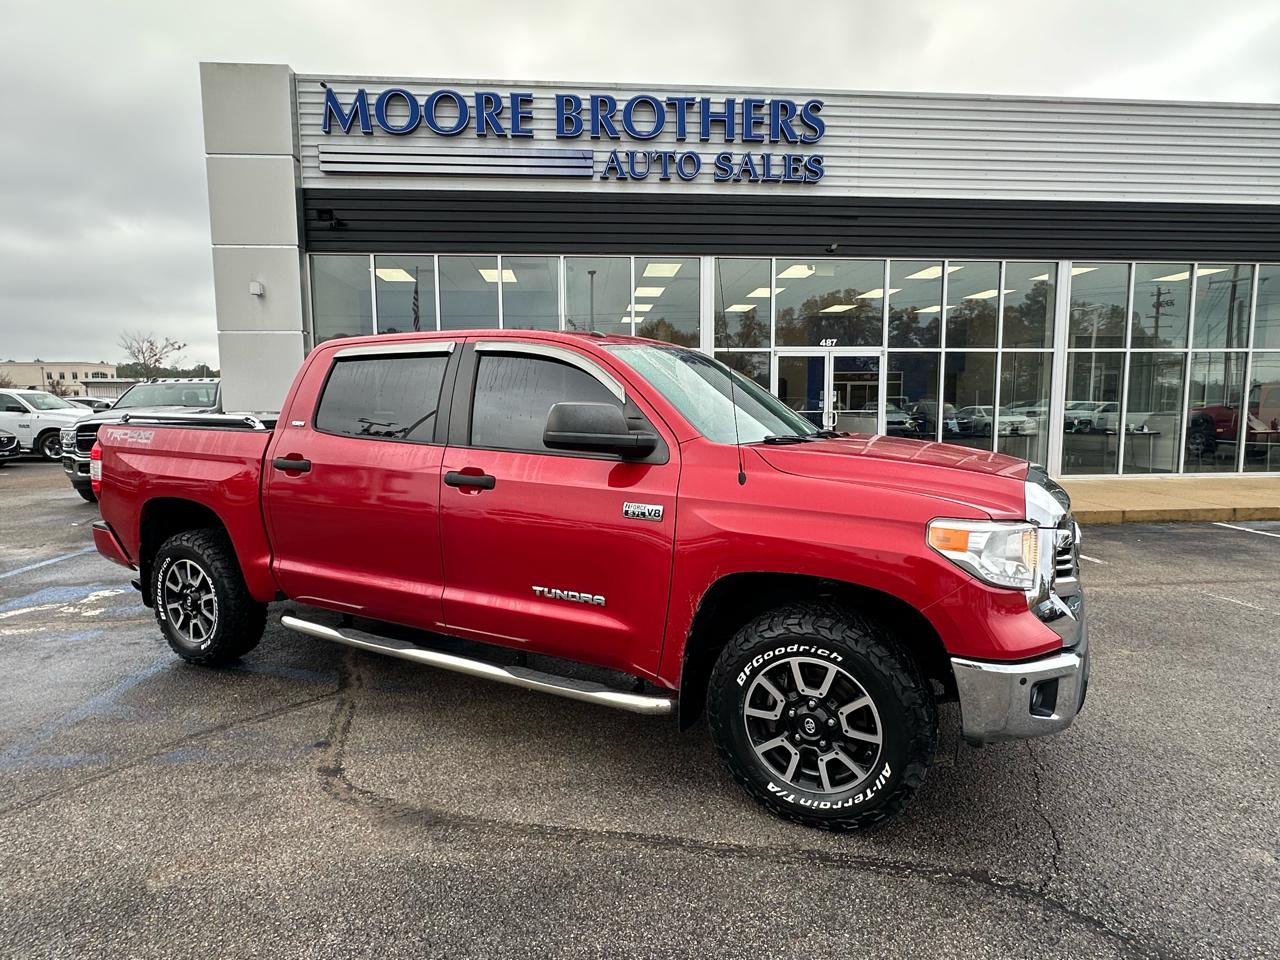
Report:
[[[1080,524],[1280,520],[1277,476],[1062,480]]]

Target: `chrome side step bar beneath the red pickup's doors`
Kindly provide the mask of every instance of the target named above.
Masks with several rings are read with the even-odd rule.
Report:
[[[451,669],[454,673],[466,673],[471,677],[494,680],[499,684],[509,684],[511,686],[524,687],[525,690],[538,690],[544,694],[554,694],[556,696],[564,696],[570,700],[582,700],[584,703],[613,707],[620,710],[644,713],[652,717],[669,714],[676,709],[676,698],[673,696],[645,696],[644,694],[628,694],[622,690],[607,687],[603,684],[594,684],[586,680],[572,680],[570,677],[557,677],[550,673],[541,673],[536,669],[529,669],[526,667],[499,667],[494,663],[485,663],[484,660],[456,657],[452,653],[424,650],[420,646],[404,644],[398,640],[388,640],[381,636],[374,636],[372,634],[366,634],[362,630],[344,627],[339,631],[333,627],[321,626],[320,623],[298,620],[297,617],[280,617],[280,623],[289,630],[297,630],[300,634],[308,634],[310,636],[317,636],[321,640],[332,640],[338,644],[346,644],[347,646],[355,646],[357,650],[369,650],[370,653],[380,653],[385,657],[397,657],[402,660],[425,663],[428,667]]]

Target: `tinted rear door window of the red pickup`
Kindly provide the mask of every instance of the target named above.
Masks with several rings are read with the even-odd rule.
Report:
[[[339,360],[329,374],[316,430],[429,443],[448,357]]]

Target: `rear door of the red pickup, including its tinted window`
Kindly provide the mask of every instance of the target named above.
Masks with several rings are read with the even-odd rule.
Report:
[[[439,627],[436,415],[454,346],[339,349],[319,398],[300,390],[282,416],[264,490],[274,571],[291,598]]]

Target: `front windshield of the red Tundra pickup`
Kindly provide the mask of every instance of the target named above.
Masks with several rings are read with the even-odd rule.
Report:
[[[630,343],[608,349],[648,380],[698,433],[714,443],[760,443],[765,436],[809,436],[817,433],[813,424],[754,380],[701,353],[681,347]]]

